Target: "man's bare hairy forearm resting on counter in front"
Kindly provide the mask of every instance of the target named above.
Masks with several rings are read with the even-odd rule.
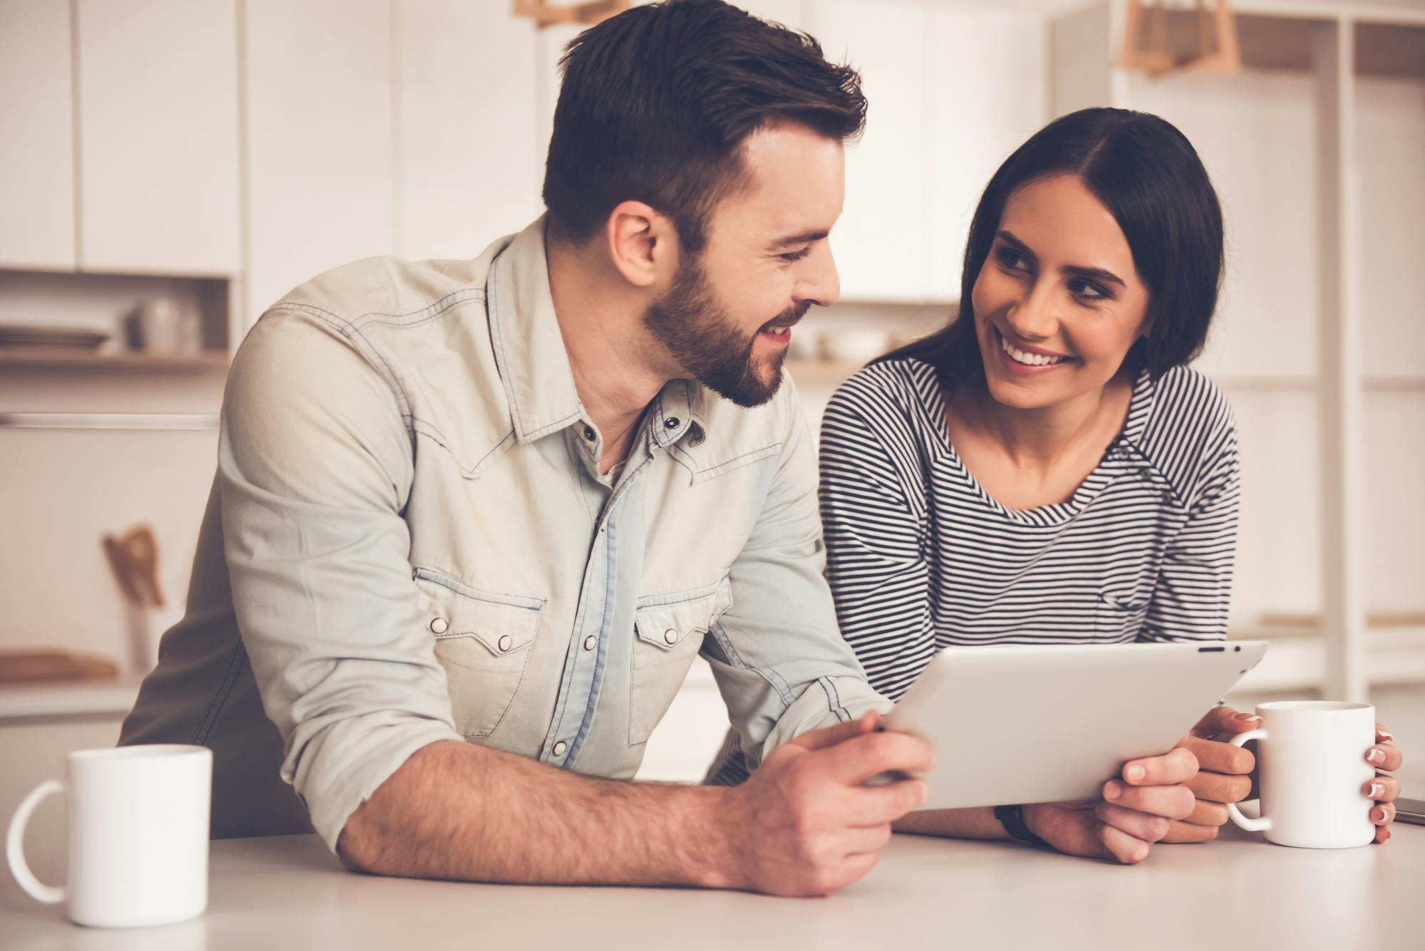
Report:
[[[727,789],[567,773],[470,743],[408,759],[342,830],[355,870],[542,884],[738,887]]]

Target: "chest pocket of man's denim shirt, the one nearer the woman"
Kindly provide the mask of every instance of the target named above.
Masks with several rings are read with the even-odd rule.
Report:
[[[673,705],[712,625],[732,606],[732,585],[640,598],[634,611],[633,671],[628,679],[628,745],[648,742]]]

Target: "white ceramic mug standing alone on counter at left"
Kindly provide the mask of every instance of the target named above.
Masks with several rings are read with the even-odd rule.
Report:
[[[154,745],[77,750],[68,779],[40,783],[10,820],[10,871],[31,898],[68,900],[76,924],[107,928],[182,921],[208,905],[212,750]],[[24,861],[24,826],[43,799],[68,799],[68,884],[47,886]]]

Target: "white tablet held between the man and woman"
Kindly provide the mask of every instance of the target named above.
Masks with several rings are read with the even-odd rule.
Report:
[[[885,720],[935,747],[923,809],[1099,799],[1167,753],[1265,641],[945,648]]]

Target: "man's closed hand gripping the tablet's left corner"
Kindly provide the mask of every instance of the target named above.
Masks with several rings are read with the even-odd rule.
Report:
[[[741,874],[731,883],[779,895],[829,895],[866,874],[891,840],[891,823],[925,804],[918,779],[862,786],[888,770],[929,772],[931,746],[878,732],[878,713],[804,733],[767,755],[728,790],[725,827]]]

